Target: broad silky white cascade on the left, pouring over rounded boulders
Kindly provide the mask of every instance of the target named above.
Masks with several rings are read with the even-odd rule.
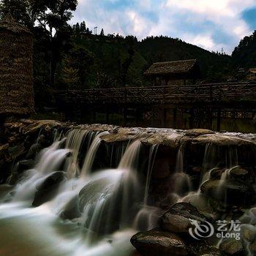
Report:
[[[90,173],[100,136],[107,133],[95,136],[78,176],[78,155],[88,132],[79,129],[69,132],[66,148],[61,148],[64,144],[61,140],[43,150],[37,165],[27,171],[23,181],[15,188],[12,201],[0,206],[1,225],[12,219],[12,223],[20,225],[20,230],[23,230],[25,223],[26,236],[31,241],[27,249],[29,255],[129,255],[132,252],[129,238],[136,231],[129,227],[132,227],[139,210],[136,210],[136,202],[139,204],[143,200],[136,171],[141,143],[135,140],[129,145],[117,169]],[[64,170],[67,178],[58,184],[52,199],[42,201],[36,208],[28,208],[34,205],[40,189],[48,192],[44,189],[51,186],[50,182],[56,181],[50,178],[60,173],[59,170]],[[78,214],[62,227],[59,216],[66,217],[67,212],[75,214],[75,208],[72,208],[74,202]],[[69,207],[72,211],[68,211]],[[131,208],[134,208],[133,214],[129,211]],[[41,230],[37,236],[32,235],[33,227]],[[61,236],[58,235],[59,229],[63,230]],[[20,236],[23,236],[22,233],[17,233],[15,238],[18,240]],[[32,244],[37,244],[38,249]],[[18,243],[15,246],[15,255],[23,255],[23,247]],[[12,255],[9,251],[4,252]]]

